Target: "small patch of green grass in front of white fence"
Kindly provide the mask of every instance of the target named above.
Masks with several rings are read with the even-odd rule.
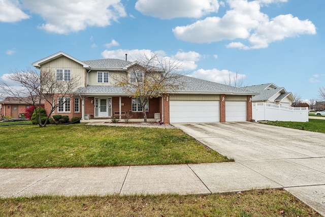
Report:
[[[294,121],[266,121],[266,125],[274,125],[285,128],[293,128],[318,133],[325,133],[325,119],[309,119],[309,122],[294,122]]]

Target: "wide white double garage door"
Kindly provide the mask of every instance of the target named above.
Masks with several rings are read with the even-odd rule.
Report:
[[[171,123],[219,122],[219,101],[169,102]]]

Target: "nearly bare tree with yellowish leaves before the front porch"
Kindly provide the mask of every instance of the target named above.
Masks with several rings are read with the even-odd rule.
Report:
[[[122,86],[126,94],[138,99],[144,122],[147,122],[146,105],[149,99],[162,97],[184,86],[180,68],[178,60],[144,54],[128,68],[127,76],[114,78],[115,85]]]

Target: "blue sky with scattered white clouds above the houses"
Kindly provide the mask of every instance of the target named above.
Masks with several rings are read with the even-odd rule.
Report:
[[[193,77],[274,83],[318,99],[323,0],[0,0],[0,77],[63,51],[79,60],[181,60]]]

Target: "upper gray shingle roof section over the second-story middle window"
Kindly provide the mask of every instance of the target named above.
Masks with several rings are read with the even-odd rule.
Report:
[[[122,59],[95,59],[85,60],[83,63],[93,69],[123,69],[125,66],[131,64],[130,61]]]

